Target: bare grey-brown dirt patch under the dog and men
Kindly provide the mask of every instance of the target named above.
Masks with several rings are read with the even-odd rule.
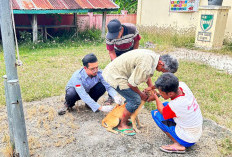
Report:
[[[106,99],[104,95],[100,102]],[[93,113],[79,101],[74,111],[58,116],[57,110],[64,96],[23,103],[31,156],[183,156],[167,154],[159,150],[171,141],[156,126],[148,110],[143,109],[139,119],[146,126],[135,136],[116,135],[101,126],[105,117],[102,112]],[[0,150],[8,136],[6,108],[0,108]],[[226,128],[211,120],[204,120],[200,141],[187,149],[184,156],[220,156],[217,141],[232,135]],[[8,136],[9,137],[9,136]],[[0,156],[3,156],[0,151]]]

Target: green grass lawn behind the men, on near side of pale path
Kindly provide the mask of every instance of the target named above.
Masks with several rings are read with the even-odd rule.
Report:
[[[23,101],[64,94],[67,81],[73,72],[82,66],[81,59],[94,52],[101,69],[110,62],[104,43],[83,43],[80,46],[29,49],[20,48],[23,66],[18,67]],[[3,53],[0,52],[0,76],[5,74]],[[155,73],[153,82],[161,73]],[[176,73],[195,94],[202,114],[217,123],[232,129],[232,76],[204,64],[180,61]],[[3,87],[3,79],[0,81]],[[140,88],[143,88],[141,85]],[[4,88],[0,88],[0,105],[5,105]],[[155,104],[146,104],[154,109]]]

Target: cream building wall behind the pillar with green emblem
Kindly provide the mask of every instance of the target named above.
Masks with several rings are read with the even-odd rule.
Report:
[[[199,6],[208,5],[208,0],[200,0]],[[223,6],[231,6],[232,0],[223,0]],[[137,25],[196,28],[198,12],[169,12],[170,0],[138,0]],[[229,11],[225,34],[232,37],[232,10]]]

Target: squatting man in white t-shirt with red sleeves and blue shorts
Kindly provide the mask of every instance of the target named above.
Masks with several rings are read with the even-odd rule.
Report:
[[[189,87],[172,73],[162,74],[155,87],[165,100],[171,98],[170,102],[161,103],[156,94],[150,97],[150,101],[155,100],[157,105],[157,110],[151,111],[154,121],[174,142],[160,149],[184,153],[186,147],[194,145],[201,137],[203,118],[200,107]]]

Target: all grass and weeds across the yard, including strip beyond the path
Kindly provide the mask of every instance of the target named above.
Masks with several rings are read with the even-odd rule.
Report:
[[[152,30],[152,29],[151,29]],[[165,33],[165,35],[163,35]],[[21,39],[20,55],[23,66],[18,67],[19,81],[23,101],[34,101],[42,98],[64,94],[67,81],[75,70],[82,65],[81,58],[87,53],[94,52],[98,59],[100,68],[110,62],[108,52],[100,31],[87,30],[79,33],[78,37],[68,36],[64,33],[62,37],[55,37],[48,42],[31,43],[30,36],[24,33]],[[69,33],[71,35],[71,33]],[[167,31],[145,31],[141,29],[141,45],[152,42],[159,51],[168,51],[175,47],[193,48],[193,34],[170,34]],[[187,41],[187,42],[186,42]],[[231,54],[231,45],[227,50],[223,49],[217,53]],[[5,74],[5,65],[2,48],[0,47],[0,76]],[[161,73],[155,73],[153,82]],[[207,65],[180,61],[180,68],[176,73],[180,81],[186,82],[191,88],[202,114],[217,123],[232,129],[232,76],[211,68]],[[3,87],[3,81],[0,81]],[[143,89],[145,85],[141,85]],[[5,105],[4,89],[0,88],[0,106]],[[155,109],[154,103],[146,103],[149,110]],[[231,155],[231,140],[224,139],[218,143],[224,155]]]

